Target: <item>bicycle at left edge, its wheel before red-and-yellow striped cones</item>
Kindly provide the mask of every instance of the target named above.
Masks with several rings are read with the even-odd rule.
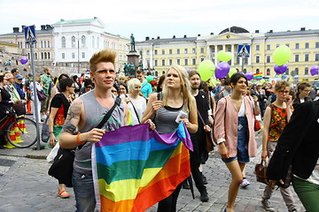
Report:
[[[0,131],[4,134],[4,139],[9,141],[13,147],[29,148],[35,144],[36,125],[35,122],[23,115],[18,117],[13,110],[7,110],[4,124],[0,126]]]

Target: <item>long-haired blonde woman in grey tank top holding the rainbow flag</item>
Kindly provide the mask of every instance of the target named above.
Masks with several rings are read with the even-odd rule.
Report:
[[[159,98],[158,98],[159,96]],[[176,117],[183,111],[186,117],[184,121],[190,133],[198,131],[197,106],[194,96],[191,95],[191,83],[188,73],[180,65],[173,65],[169,68],[163,82],[163,90],[150,95],[142,123],[153,122],[159,133],[173,133],[178,126]],[[177,186],[175,191],[166,199],[159,201],[158,212],[174,212],[178,194],[182,184]]]

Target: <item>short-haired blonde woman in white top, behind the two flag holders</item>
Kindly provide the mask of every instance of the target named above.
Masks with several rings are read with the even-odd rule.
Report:
[[[132,123],[131,125],[141,124],[141,119],[146,109],[146,100],[140,96],[142,84],[140,80],[133,78],[128,81],[128,97],[125,98],[125,102],[128,103],[128,110],[130,111]],[[125,95],[121,95],[121,97]]]

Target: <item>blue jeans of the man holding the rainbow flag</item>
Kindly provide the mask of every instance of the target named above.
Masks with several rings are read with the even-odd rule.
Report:
[[[93,177],[73,171],[76,212],[93,212],[96,207]]]

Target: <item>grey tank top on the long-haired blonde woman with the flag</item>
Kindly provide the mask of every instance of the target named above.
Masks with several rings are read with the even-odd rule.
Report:
[[[161,93],[159,93],[158,96],[158,99],[161,100]],[[156,111],[154,124],[156,125],[156,130],[159,132],[159,134],[175,132],[178,126],[175,120],[180,111],[182,110],[189,116],[189,112],[186,111],[184,104],[181,108],[171,108],[165,106],[161,107],[159,110]]]

